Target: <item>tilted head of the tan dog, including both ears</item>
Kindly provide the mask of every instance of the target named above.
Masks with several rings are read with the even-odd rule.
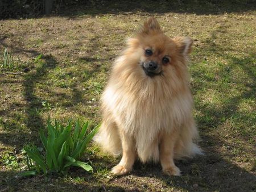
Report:
[[[129,53],[137,53],[135,56],[144,74],[155,77],[185,64],[192,42],[190,37],[168,37],[158,21],[151,17],[144,22],[137,37],[129,39],[128,45]]]

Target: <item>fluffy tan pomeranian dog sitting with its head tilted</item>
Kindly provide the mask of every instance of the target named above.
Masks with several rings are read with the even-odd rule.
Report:
[[[179,176],[174,159],[201,150],[195,143],[187,60],[192,39],[171,39],[149,18],[115,60],[101,97],[103,122],[96,141],[113,155],[122,153],[114,174],[126,174],[134,161],[160,161],[163,172]]]

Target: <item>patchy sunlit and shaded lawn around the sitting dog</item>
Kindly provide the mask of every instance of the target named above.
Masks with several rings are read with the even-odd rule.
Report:
[[[0,68],[0,191],[255,191],[256,3],[254,1],[90,1],[58,15],[0,21],[14,67]],[[127,37],[155,16],[167,35],[194,40],[189,70],[194,116],[205,156],[177,161],[183,176],[136,162],[122,177],[119,158],[91,144],[93,173],[20,177],[23,147],[41,145],[48,115],[101,122],[99,99]]]

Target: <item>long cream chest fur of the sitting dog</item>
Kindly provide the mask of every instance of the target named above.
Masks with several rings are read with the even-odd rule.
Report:
[[[134,137],[142,161],[158,161],[159,134],[179,128],[190,115],[187,113],[192,107],[191,94],[173,97],[170,92],[163,92],[168,89],[158,89],[153,82],[147,82],[127,91],[127,87],[116,84],[109,86],[102,97],[118,128]]]

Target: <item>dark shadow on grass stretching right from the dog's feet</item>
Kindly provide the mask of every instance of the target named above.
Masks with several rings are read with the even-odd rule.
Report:
[[[254,191],[256,189],[256,177],[253,173],[225,161],[221,154],[216,152],[176,161],[176,165],[182,171],[181,177],[165,176],[159,164],[143,165],[140,162],[135,164],[131,175],[158,178],[163,181],[163,189],[167,187],[188,191]]]

